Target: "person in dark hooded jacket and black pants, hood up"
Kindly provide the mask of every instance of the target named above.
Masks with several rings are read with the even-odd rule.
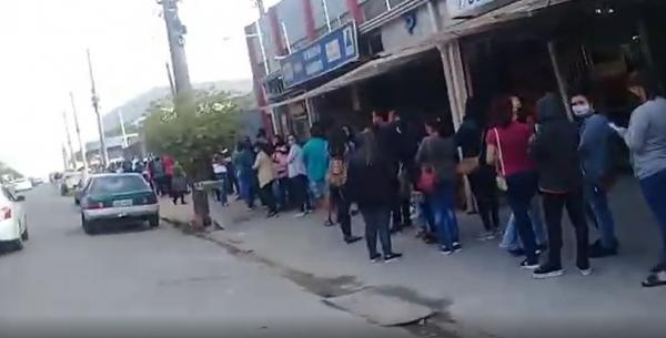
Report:
[[[578,129],[567,119],[561,98],[546,93],[536,104],[538,132],[529,154],[538,172],[548,229],[548,259],[533,273],[534,278],[562,276],[562,212],[566,207],[576,232],[576,266],[581,274],[589,267],[588,229],[583,198],[583,174],[578,156]]]

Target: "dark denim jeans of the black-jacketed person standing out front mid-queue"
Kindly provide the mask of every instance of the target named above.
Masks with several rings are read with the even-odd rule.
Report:
[[[393,253],[391,247],[391,233],[389,223],[391,222],[391,208],[389,207],[363,207],[361,215],[365,222],[365,243],[370,258],[375,258],[377,254],[377,237],[382,244],[384,255]]]

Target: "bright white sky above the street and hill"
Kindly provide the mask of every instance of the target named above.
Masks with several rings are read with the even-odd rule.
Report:
[[[251,76],[243,32],[258,17],[251,2],[181,1],[192,82]],[[169,85],[160,11],[155,0],[0,0],[0,161],[29,176],[62,170],[63,110],[79,148],[70,91],[83,142],[97,140],[87,48],[102,113]]]

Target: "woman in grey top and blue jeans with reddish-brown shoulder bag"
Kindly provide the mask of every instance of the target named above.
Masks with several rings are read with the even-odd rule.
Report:
[[[440,117],[426,121],[425,130],[427,136],[418,147],[416,163],[422,168],[421,175],[430,174],[433,180],[432,186],[421,188],[430,195],[440,249],[451,255],[463,249],[455,215],[455,142]]]

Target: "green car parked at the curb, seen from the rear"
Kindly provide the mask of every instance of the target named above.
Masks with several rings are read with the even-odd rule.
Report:
[[[158,196],[135,173],[92,175],[81,194],[81,225],[87,234],[113,223],[148,221],[160,225]]]

